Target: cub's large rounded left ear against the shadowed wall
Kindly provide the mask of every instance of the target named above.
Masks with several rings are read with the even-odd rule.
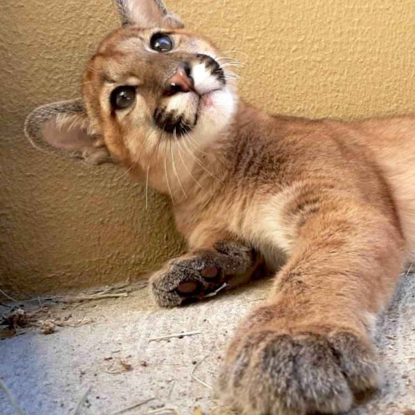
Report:
[[[47,153],[81,158],[91,164],[114,163],[102,138],[91,131],[82,99],[54,102],[26,118],[26,137]]]

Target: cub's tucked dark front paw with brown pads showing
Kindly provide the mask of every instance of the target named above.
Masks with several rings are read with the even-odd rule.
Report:
[[[151,275],[151,292],[158,305],[178,306],[214,293],[231,279],[249,279],[259,262],[252,247],[223,239],[168,261]]]

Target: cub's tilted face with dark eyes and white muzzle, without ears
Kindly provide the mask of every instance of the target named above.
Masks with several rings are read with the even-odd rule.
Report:
[[[224,62],[210,42],[181,29],[117,30],[84,74],[93,131],[111,154],[141,165],[165,151],[165,140],[180,145],[187,135],[208,145],[229,124],[237,103]]]

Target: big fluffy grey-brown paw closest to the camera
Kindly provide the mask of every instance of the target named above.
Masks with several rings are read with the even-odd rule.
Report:
[[[252,329],[236,338],[219,394],[238,414],[339,414],[380,385],[371,346],[348,332]]]

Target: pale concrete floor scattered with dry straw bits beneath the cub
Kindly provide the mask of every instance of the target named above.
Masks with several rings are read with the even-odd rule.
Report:
[[[192,370],[196,365],[194,374],[206,384],[214,384],[232,329],[249,308],[266,297],[269,285],[259,282],[172,310],[154,306],[146,289],[128,297],[53,306],[48,318],[66,317],[68,322],[87,324],[57,327],[50,335],[35,327],[1,340],[0,378],[26,415],[113,415],[150,398],[154,399],[120,413],[196,415],[201,414],[195,411],[199,408],[203,414],[224,414],[211,390],[192,377]],[[403,278],[379,326],[386,386],[364,406],[353,409],[353,415],[395,415],[415,409],[413,275]],[[149,342],[190,331],[200,334]],[[172,409],[157,411],[163,407]],[[1,389],[0,414],[15,415]]]

